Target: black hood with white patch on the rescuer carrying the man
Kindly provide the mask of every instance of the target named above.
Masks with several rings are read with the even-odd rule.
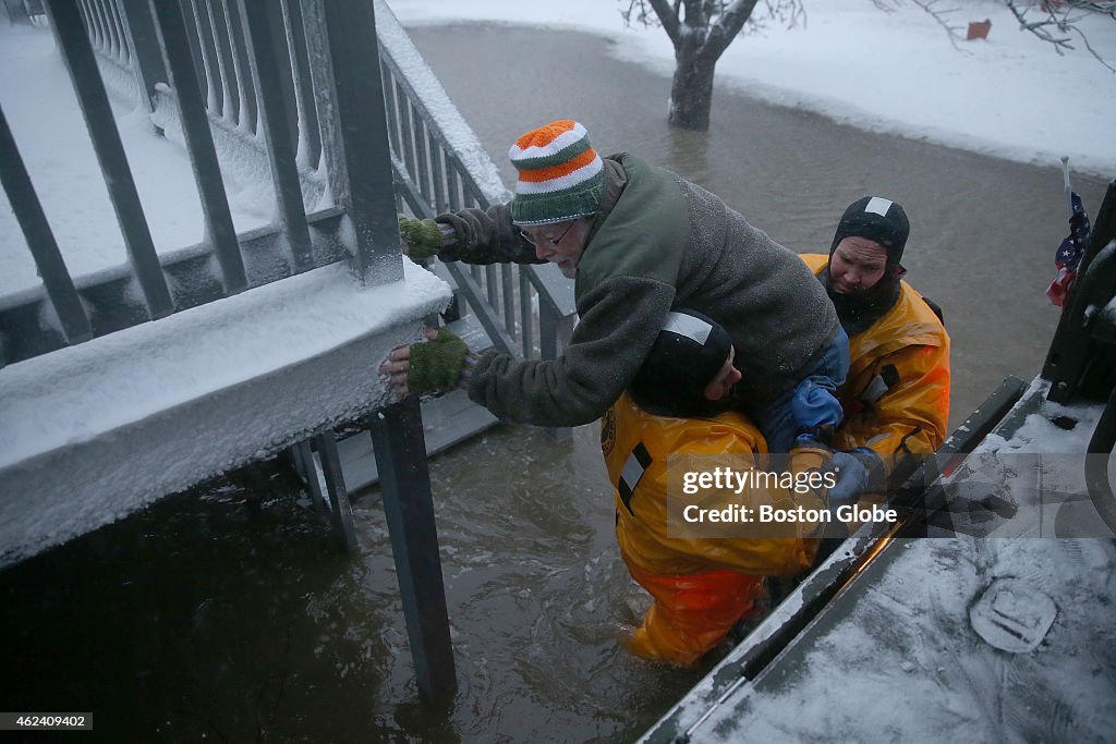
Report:
[[[731,348],[732,338],[716,321],[696,310],[673,310],[628,392],[651,413],[706,415],[711,402],[705,399],[705,386],[724,366]]]

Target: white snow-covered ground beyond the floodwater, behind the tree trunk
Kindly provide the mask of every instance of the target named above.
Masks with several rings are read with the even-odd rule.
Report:
[[[1059,56],[1021,31],[1000,2],[943,0],[943,9],[960,8],[946,17],[954,26],[992,21],[987,40],[954,48],[934,18],[910,0],[898,3],[884,12],[872,0],[805,0],[805,27],[768,21],[762,31],[734,40],[716,65],[715,85],[855,126],[1006,158],[1049,165],[1066,155],[1074,168],[1116,176],[1116,74],[1080,38],[1070,35],[1077,49]],[[663,29],[624,25],[619,11],[628,0],[389,4],[405,25],[498,21],[599,33],[616,41],[610,48],[623,59],[664,75],[674,69]],[[1087,13],[1080,28],[1116,67],[1116,20]]]

